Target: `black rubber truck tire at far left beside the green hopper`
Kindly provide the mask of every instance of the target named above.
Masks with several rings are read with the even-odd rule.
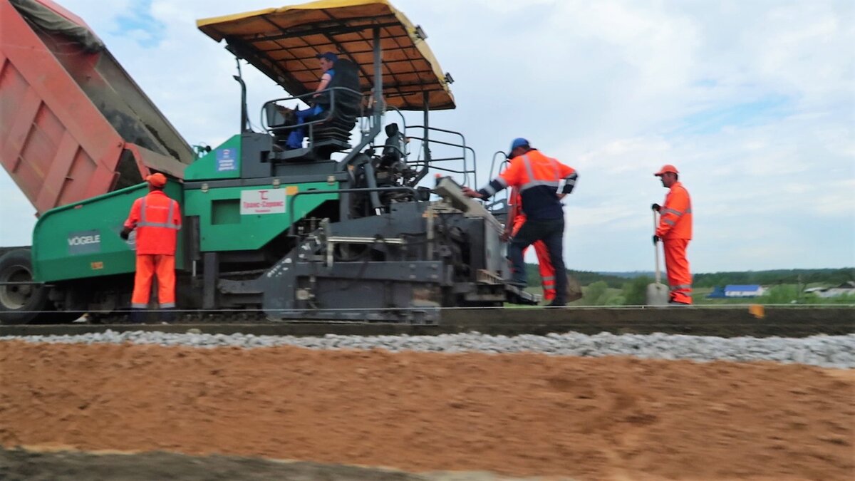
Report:
[[[15,249],[0,257],[0,282],[9,282],[13,275],[17,282],[32,281],[29,249]],[[49,288],[33,284],[32,292],[23,304],[14,303],[10,299],[8,293],[12,292],[12,289],[14,288],[11,286],[0,286],[0,324],[29,324],[52,306],[48,300]]]

